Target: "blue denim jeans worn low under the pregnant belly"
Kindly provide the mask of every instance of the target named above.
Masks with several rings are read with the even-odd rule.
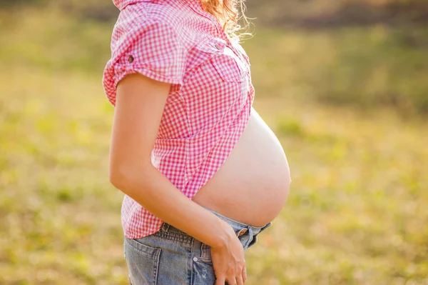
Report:
[[[250,226],[211,209],[235,230],[244,250],[254,246],[265,226]],[[163,223],[155,234],[141,239],[124,237],[124,253],[132,285],[214,285],[210,246]]]

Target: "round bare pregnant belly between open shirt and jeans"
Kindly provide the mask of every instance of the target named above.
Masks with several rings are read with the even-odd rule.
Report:
[[[282,146],[252,109],[230,156],[192,200],[231,219],[263,226],[280,213],[289,186],[290,170]]]

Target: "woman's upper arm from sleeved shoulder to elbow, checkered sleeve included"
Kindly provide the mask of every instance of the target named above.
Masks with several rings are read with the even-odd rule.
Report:
[[[103,74],[107,98],[116,106],[111,176],[141,171],[151,162],[171,84],[182,84],[185,57],[175,28],[165,21],[128,15],[113,29],[112,56]]]

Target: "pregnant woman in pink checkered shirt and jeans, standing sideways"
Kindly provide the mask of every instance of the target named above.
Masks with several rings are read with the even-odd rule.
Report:
[[[290,171],[253,109],[238,0],[115,0],[103,74],[130,284],[245,284]],[[242,6],[242,5],[241,5]]]

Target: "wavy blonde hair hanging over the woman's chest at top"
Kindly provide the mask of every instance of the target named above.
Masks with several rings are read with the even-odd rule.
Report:
[[[244,35],[251,36],[248,32],[240,32],[244,28],[248,28],[250,22],[245,16],[245,0],[201,0],[203,8],[210,14],[213,14],[223,26],[223,31],[232,38],[240,39]],[[239,6],[239,9],[238,9]],[[238,24],[238,21],[243,19],[245,26]]]

